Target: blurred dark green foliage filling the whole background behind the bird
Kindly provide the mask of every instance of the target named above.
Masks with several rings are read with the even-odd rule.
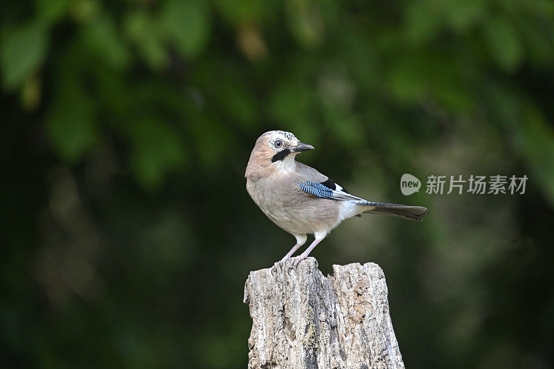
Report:
[[[413,368],[553,366],[554,3],[3,3],[0,366],[244,368],[242,283],[294,240],[244,190],[256,138],[421,224],[315,251],[378,262]],[[401,197],[404,172],[525,195]]]

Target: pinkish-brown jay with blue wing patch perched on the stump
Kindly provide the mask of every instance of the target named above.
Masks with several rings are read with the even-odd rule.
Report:
[[[329,177],[295,160],[296,155],[313,149],[291,132],[274,130],[262,134],[250,154],[244,173],[247,192],[272,222],[296,238],[296,244],[274,267],[285,264],[305,244],[307,235],[314,235],[314,242],[292,258],[296,266],[343,220],[361,213],[409,220],[421,220],[429,213],[422,206],[386,204],[350,195]]]

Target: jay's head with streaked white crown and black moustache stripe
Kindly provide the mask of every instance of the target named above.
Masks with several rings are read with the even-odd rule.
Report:
[[[250,155],[249,165],[287,170],[294,164],[294,156],[314,147],[299,141],[294,134],[285,131],[269,131],[258,137]]]

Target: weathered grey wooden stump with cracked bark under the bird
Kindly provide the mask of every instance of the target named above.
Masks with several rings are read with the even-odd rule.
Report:
[[[382,269],[315,262],[252,271],[244,303],[253,320],[248,368],[404,368]]]

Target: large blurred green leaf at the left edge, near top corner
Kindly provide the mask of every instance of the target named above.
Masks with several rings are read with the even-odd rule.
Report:
[[[0,39],[2,85],[14,90],[33,75],[42,64],[48,48],[48,30],[44,24],[31,22],[3,31]]]

